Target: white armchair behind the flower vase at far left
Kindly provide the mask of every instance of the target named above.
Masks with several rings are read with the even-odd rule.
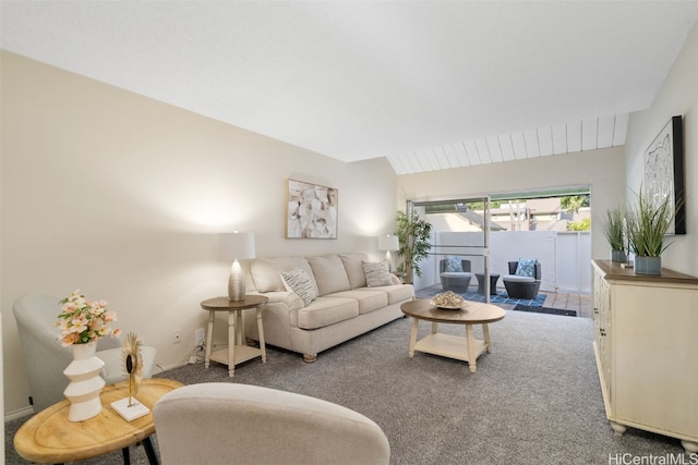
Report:
[[[63,391],[70,380],[63,370],[73,360],[71,347],[59,341],[59,330],[53,322],[61,313],[60,298],[49,295],[26,295],[13,306],[20,341],[29,381],[34,412],[65,399]],[[97,357],[104,363],[101,377],[107,384],[125,380],[121,365],[121,339],[101,338],[97,342]],[[143,378],[152,378],[155,371],[155,347],[142,346]]]

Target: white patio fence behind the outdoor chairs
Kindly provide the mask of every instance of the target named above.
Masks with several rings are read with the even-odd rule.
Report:
[[[462,255],[472,272],[484,271],[483,236],[480,232],[436,232],[432,255],[420,262],[421,277],[414,287],[440,282],[438,260],[444,255]],[[490,273],[508,274],[507,262],[520,257],[541,264],[541,291],[591,293],[591,234],[589,232],[498,231],[490,234]],[[473,279],[472,283],[477,283]],[[497,282],[503,286],[502,280]]]

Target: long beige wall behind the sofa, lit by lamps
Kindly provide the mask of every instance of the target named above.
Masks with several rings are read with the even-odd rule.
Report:
[[[257,256],[377,252],[396,175],[344,163],[2,52],[1,267],[5,414],[29,394],[12,304],[80,287],[119,326],[185,363],[198,303],[225,295],[217,233],[256,234]],[[339,189],[337,240],[285,240],[287,179]],[[172,331],[183,342],[172,344]],[[220,329],[224,329],[220,326]],[[219,332],[216,340],[226,341]],[[203,367],[202,367],[203,369]]]

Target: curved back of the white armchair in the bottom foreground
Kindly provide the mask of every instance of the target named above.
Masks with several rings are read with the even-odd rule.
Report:
[[[320,399],[212,382],[168,392],[153,408],[164,465],[387,465],[371,419]]]

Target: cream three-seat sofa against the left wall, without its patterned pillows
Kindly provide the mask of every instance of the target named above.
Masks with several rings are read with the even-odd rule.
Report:
[[[314,362],[320,352],[400,318],[400,304],[414,298],[414,289],[393,274],[387,285],[366,285],[363,262],[372,261],[365,254],[245,260],[248,294],[269,298],[262,316],[265,342]],[[308,305],[281,279],[299,269],[316,294]],[[244,321],[245,336],[258,341],[255,319],[245,315]]]

